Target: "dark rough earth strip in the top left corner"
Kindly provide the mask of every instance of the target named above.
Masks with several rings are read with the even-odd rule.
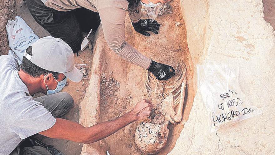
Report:
[[[16,14],[15,0],[0,0],[0,55],[8,54],[8,36],[6,25],[8,19],[14,19]]]

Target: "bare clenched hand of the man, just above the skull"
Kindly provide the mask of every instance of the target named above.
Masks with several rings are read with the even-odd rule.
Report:
[[[134,109],[130,112],[130,114],[137,116],[137,121],[143,120],[150,116],[153,105],[146,102],[145,100],[140,101]]]

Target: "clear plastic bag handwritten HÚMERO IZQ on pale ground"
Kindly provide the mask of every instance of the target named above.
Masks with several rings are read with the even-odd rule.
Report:
[[[208,113],[211,132],[262,112],[250,105],[238,84],[239,68],[209,62],[197,65],[198,93]]]

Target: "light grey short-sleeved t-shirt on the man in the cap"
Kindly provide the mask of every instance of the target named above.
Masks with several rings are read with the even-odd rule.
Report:
[[[0,56],[0,154],[10,154],[22,139],[45,131],[56,119],[29,95],[18,75],[18,63],[9,55]]]

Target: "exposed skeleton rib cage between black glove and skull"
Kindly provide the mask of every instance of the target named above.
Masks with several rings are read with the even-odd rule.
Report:
[[[145,96],[152,101],[155,109],[161,111],[171,123],[180,122],[187,81],[183,62],[178,62],[175,77],[168,81],[157,80],[147,70],[144,70],[143,80],[147,91]]]

